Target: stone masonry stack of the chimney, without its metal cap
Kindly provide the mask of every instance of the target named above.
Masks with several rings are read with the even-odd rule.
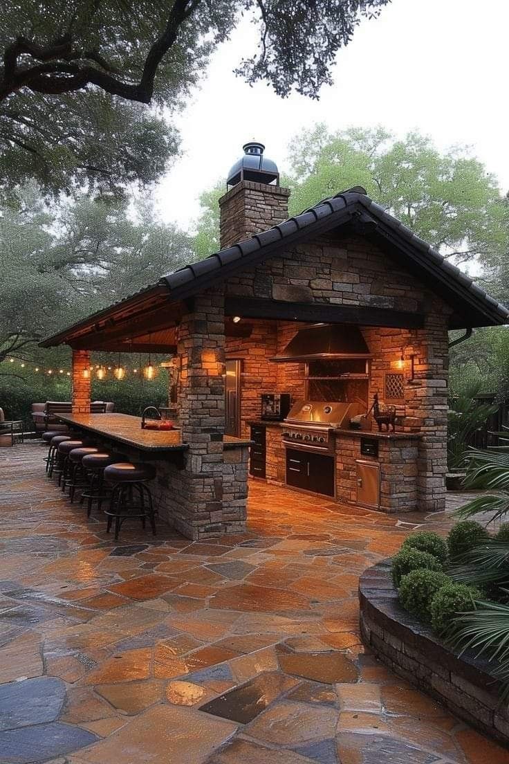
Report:
[[[219,199],[221,249],[288,218],[289,189],[242,180]]]

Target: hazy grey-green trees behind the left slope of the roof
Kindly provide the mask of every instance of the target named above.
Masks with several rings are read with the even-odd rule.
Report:
[[[133,220],[127,202],[86,195],[47,205],[36,186],[4,206],[0,362],[40,357],[35,345],[44,335],[192,259],[188,237],[156,219],[150,204],[135,212]]]

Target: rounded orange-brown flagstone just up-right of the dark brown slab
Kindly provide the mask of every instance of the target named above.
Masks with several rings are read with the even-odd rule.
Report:
[[[280,653],[279,665],[286,674],[325,685],[357,681],[359,669],[341,652]]]

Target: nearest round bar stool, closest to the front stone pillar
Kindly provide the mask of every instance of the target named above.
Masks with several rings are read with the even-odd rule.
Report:
[[[154,536],[156,535],[154,516],[157,510],[153,508],[150,488],[145,484],[146,481],[153,480],[155,477],[156,468],[153,465],[140,462],[131,464],[129,461],[121,461],[105,468],[105,480],[113,484],[110,507],[105,510],[105,514],[108,516],[106,532],[110,532],[111,523],[114,520],[115,541],[118,539],[122,523],[128,517],[140,517],[143,529],[148,517],[152,533]],[[139,503],[134,500],[135,490],[139,494]],[[148,502],[147,507],[145,506],[145,499]]]

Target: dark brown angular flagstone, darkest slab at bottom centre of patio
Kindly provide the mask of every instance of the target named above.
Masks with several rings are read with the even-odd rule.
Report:
[[[271,672],[260,674],[213,701],[200,706],[200,711],[240,724],[249,724],[282,692],[296,684],[296,679]]]

